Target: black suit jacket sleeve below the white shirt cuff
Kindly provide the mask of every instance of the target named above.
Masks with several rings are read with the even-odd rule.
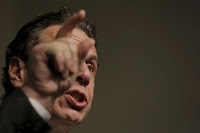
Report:
[[[50,126],[37,114],[26,95],[15,89],[0,106],[1,133],[46,133]]]

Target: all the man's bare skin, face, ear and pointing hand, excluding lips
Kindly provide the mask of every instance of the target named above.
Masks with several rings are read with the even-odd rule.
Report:
[[[66,24],[46,28],[40,36],[42,43],[31,50],[28,63],[13,58],[9,66],[13,86],[22,88],[50,111],[52,132],[68,132],[91,108],[98,59],[95,41],[76,28],[84,17],[85,12],[80,11]],[[55,50],[55,43],[60,48]],[[84,108],[74,108],[67,102],[67,93],[75,90],[86,96]]]

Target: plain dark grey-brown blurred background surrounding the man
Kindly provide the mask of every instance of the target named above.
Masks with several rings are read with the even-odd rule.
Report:
[[[6,46],[33,17],[62,6],[84,8],[97,27],[100,67],[92,110],[71,133],[199,133],[199,5],[192,0],[2,0],[0,67]]]

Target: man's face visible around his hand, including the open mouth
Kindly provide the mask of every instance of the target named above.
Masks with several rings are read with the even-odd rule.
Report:
[[[50,26],[41,35],[42,41],[50,41],[55,38],[61,26]],[[70,35],[75,41],[81,41],[88,36],[80,29],[74,29]],[[80,44],[81,45],[81,44]],[[85,58],[76,81],[67,92],[56,99],[50,112],[52,118],[65,123],[76,125],[80,123],[89,112],[94,95],[94,80],[97,71],[97,52],[92,46]]]

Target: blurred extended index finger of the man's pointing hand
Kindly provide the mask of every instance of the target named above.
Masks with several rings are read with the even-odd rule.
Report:
[[[75,13],[70,19],[60,28],[56,38],[66,37],[76,26],[85,18],[85,10],[80,10]]]

